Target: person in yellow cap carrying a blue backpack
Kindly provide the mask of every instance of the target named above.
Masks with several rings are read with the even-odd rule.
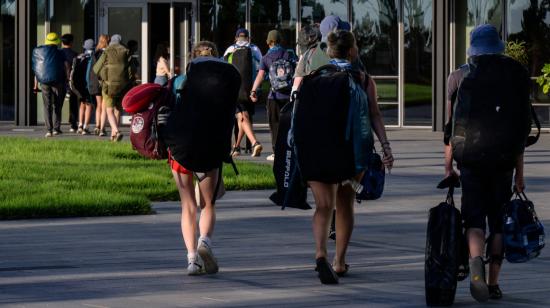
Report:
[[[35,75],[34,93],[42,91],[46,137],[61,134],[61,109],[67,90],[70,70],[64,53],[58,48],[61,40],[55,32],[48,33],[44,45],[33,50],[32,69]]]

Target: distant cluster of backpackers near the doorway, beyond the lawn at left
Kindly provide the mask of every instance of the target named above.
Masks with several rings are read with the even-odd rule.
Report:
[[[62,133],[61,110],[68,96],[70,132],[106,136],[107,122],[111,141],[118,142],[122,97],[136,83],[139,66],[134,40],[122,43],[122,37],[100,35],[97,44],[87,39],[83,52],[73,50],[74,36],[48,33],[44,45],[33,51],[34,92],[42,92],[46,137]],[[59,48],[61,44],[61,48]],[[91,119],[95,108],[95,127]]]

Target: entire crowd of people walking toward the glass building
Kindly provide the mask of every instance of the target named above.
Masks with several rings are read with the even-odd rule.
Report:
[[[240,154],[240,144],[244,135],[247,135],[250,140],[252,156],[258,156],[262,151],[262,145],[254,136],[252,130],[249,110],[257,102],[257,93],[265,79],[270,79],[271,83],[267,113],[272,146],[275,148],[281,108],[292,102],[292,98],[296,96],[295,93],[300,90],[302,82],[309,74],[321,66],[332,64],[339,70],[348,72],[350,76],[353,76],[354,82],[359,85],[361,91],[364,91],[368,98],[368,112],[365,115],[368,119],[365,120],[371,123],[372,131],[380,142],[384,166],[388,169],[392,168],[394,158],[377,103],[376,83],[367,74],[365,66],[361,63],[355,36],[350,28],[349,23],[332,15],[327,16],[320,25],[305,26],[301,30],[301,37],[299,38],[301,42],[301,56],[299,59],[296,58],[293,52],[281,46],[282,38],[277,30],[269,32],[266,38],[269,51],[264,56],[262,56],[257,46],[250,43],[249,32],[246,29],[239,29],[236,32],[235,44],[227,48],[223,54],[218,53],[216,45],[212,42],[201,41],[194,46],[191,63],[226,61],[239,69],[241,89],[235,111],[238,133],[232,146],[231,154],[233,156]],[[492,26],[482,25],[477,27],[472,31],[470,39],[471,44],[468,55],[471,59],[501,56],[504,51],[498,32]],[[122,134],[118,130],[118,121],[121,97],[129,84],[135,82],[132,79],[135,76],[135,68],[132,67],[135,66],[130,61],[130,55],[133,52],[131,44],[128,44],[128,47],[123,46],[122,38],[119,35],[113,35],[110,41],[108,36],[102,35],[95,49],[94,42],[87,40],[83,46],[84,53],[76,55],[70,49],[72,36],[64,35],[61,41],[63,42],[63,48],[58,53],[56,52],[58,51],[57,45],[60,39],[55,33],[48,34],[45,46],[38,47],[52,49],[50,52],[42,54],[57,57],[58,60],[55,61],[58,62],[46,62],[55,62],[61,72],[60,74],[52,78],[46,78],[48,76],[44,75],[47,74],[40,72],[41,66],[33,65],[37,77],[40,77],[38,81],[41,82],[44,97],[45,120],[48,130],[46,136],[61,133],[59,128],[60,110],[67,91],[68,81],[72,80],[70,78],[71,67],[73,70],[75,69],[75,65],[71,65],[71,63],[78,62],[73,61],[73,58],[89,57],[92,64],[88,65],[86,74],[88,92],[85,95],[80,93],[77,96],[77,100],[81,103],[80,115],[77,117],[76,111],[74,115],[71,112],[71,128],[84,134],[89,133],[91,106],[96,106],[96,134],[105,134],[104,119],[106,114],[112,128],[112,140],[120,140]],[[55,52],[53,52],[53,49],[55,49]],[[172,77],[172,72],[168,67],[167,53],[167,46],[161,46],[155,57],[157,61],[155,82],[162,85],[165,85],[168,79]],[[40,55],[42,54],[35,53],[36,59],[33,59],[33,62],[40,62]],[[251,61],[248,69],[244,69],[245,66],[239,63],[242,59]],[[42,61],[44,62],[43,59]],[[475,61],[471,62],[474,63]],[[470,67],[474,65],[472,63]],[[287,80],[289,72],[292,72],[290,81]],[[118,79],[113,79],[116,74],[118,74]],[[455,108],[453,106],[454,95],[456,95],[456,91],[467,74],[468,71],[461,68],[449,76],[449,123],[452,122],[452,114]],[[515,85],[518,87],[518,92],[523,91],[528,94],[528,74],[521,74],[514,78],[518,80]],[[275,80],[277,82],[274,82]],[[519,87],[525,85],[527,85],[525,89],[519,89]],[[207,87],[207,84],[205,86]],[[216,91],[216,89],[211,90]],[[496,112],[499,111],[500,109],[497,107]],[[456,151],[453,151],[452,142],[449,142],[451,134],[455,132],[450,131],[450,124],[447,126],[447,130],[445,173],[447,177],[458,178],[458,172],[454,170],[452,162],[453,153],[456,153]],[[341,138],[345,138],[345,136],[342,135]],[[372,149],[366,150],[372,151]],[[502,297],[498,285],[498,276],[503,258],[502,221],[500,217],[502,216],[504,203],[510,198],[512,182],[515,182],[516,191],[518,192],[523,191],[525,187],[522,151],[523,148],[521,148],[520,154],[513,157],[513,165],[491,172],[485,172],[481,167],[471,167],[466,164],[458,165],[463,186],[462,216],[470,251],[471,292],[472,296],[479,301]],[[188,274],[216,273],[218,264],[212,250],[212,235],[216,217],[214,203],[219,181],[221,181],[219,170],[214,168],[206,172],[193,172],[194,170],[188,170],[172,158],[169,159],[169,162],[181,198],[181,229],[187,248]],[[324,162],[325,165],[314,167],[323,169],[326,164],[331,163],[333,162],[326,161]],[[351,178],[359,180],[363,173],[364,170],[358,171],[356,174],[351,175]],[[195,193],[195,177],[198,183],[198,194]],[[350,270],[349,265],[346,263],[346,252],[354,226],[355,191],[349,184],[345,183],[349,181],[334,183],[308,178],[304,178],[304,180],[311,188],[316,203],[313,215],[316,271],[322,283],[338,283],[339,278],[345,276]],[[198,221],[197,204],[200,208]],[[332,261],[329,262],[327,238],[331,220],[333,220],[336,229],[336,252]],[[485,277],[482,257],[486,243],[487,220],[491,235],[490,247],[487,248],[490,256],[488,280]]]

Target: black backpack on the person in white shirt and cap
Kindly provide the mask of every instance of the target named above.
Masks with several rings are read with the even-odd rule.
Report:
[[[248,102],[250,91],[254,84],[254,63],[252,59],[252,48],[239,46],[235,51],[227,55],[226,61],[233,64],[241,75],[241,86],[239,90],[239,102]]]

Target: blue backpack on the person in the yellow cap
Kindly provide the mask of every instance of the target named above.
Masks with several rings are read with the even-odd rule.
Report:
[[[32,70],[42,84],[62,83],[66,80],[65,57],[55,45],[38,46],[32,51]]]

